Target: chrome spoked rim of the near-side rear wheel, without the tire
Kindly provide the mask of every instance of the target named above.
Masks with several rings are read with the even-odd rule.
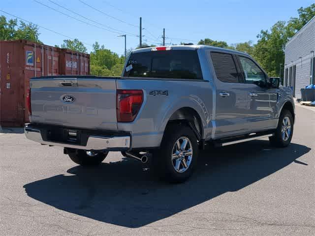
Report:
[[[183,173],[188,170],[192,160],[192,145],[187,137],[179,138],[172,152],[172,163],[175,171]]]

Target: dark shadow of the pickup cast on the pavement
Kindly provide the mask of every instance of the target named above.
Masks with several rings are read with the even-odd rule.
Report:
[[[96,168],[73,167],[66,175],[24,185],[33,199],[98,221],[137,228],[164,219],[223,193],[240,190],[296,161],[311,148],[270,148],[264,140],[202,151],[186,183],[158,181],[152,169],[123,159]]]

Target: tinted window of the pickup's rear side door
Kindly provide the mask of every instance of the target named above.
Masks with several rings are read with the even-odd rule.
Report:
[[[217,78],[226,83],[239,83],[238,73],[231,54],[211,53]]]

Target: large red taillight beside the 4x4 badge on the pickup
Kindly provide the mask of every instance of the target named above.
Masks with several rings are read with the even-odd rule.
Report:
[[[132,122],[143,102],[142,90],[117,90],[117,121]]]

